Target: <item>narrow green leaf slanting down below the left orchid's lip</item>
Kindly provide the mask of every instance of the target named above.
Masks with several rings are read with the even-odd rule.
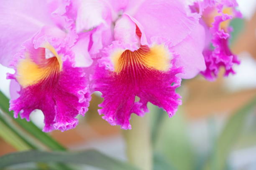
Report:
[[[33,137],[39,140],[41,143],[46,145],[51,150],[66,150],[64,146],[56,142],[53,138],[51,138],[46,133],[42,132],[33,122],[27,122],[24,119],[14,119],[13,112],[9,112],[9,99],[0,91],[0,109],[3,112],[7,113],[12,119],[17,122],[20,127],[24,128],[28,133],[30,133]]]

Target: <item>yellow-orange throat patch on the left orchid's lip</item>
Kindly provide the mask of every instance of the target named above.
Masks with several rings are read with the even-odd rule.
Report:
[[[54,57],[45,58],[46,48],[53,53]],[[38,56],[31,56],[27,53],[25,58],[18,62],[16,79],[23,88],[34,85],[41,80],[56,78],[55,75],[61,71],[62,60],[54,47],[46,44],[44,48],[40,47],[36,50],[41,50],[38,52]],[[43,55],[40,55],[41,53]]]

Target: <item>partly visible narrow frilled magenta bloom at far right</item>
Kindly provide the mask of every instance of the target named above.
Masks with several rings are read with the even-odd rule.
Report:
[[[229,48],[229,38],[232,28],[229,27],[230,20],[241,17],[236,10],[236,0],[204,0],[195,3],[192,7],[194,12],[202,15],[200,23],[206,32],[206,45],[203,52],[206,70],[201,74],[207,80],[215,80],[220,67],[225,68],[225,76],[235,74],[234,64],[240,64],[238,57]],[[211,44],[214,49],[212,49]]]

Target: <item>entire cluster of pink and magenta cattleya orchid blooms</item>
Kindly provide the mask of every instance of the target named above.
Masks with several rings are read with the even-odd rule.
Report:
[[[148,102],[172,117],[182,103],[175,92],[182,78],[201,72],[212,80],[221,65],[227,75],[238,63],[225,21],[238,16],[236,3],[223,2],[2,2],[0,63],[15,69],[8,74],[10,110],[29,120],[40,109],[45,132],[69,130],[87,111],[91,92],[100,91],[99,113],[111,125],[131,129],[131,114],[143,116]]]

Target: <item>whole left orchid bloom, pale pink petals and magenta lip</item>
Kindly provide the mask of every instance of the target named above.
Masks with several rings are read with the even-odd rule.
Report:
[[[74,128],[90,101],[86,74],[76,63],[77,35],[58,10],[41,0],[0,4],[0,63],[15,69],[8,74],[10,110],[28,121],[33,110],[42,110],[44,132]]]

